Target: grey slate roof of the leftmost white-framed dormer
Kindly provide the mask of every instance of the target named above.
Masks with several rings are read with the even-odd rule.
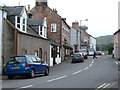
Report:
[[[3,8],[7,11],[7,15],[20,15],[24,6],[4,6]]]

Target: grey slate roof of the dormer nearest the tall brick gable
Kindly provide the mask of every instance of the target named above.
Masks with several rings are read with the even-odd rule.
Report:
[[[44,22],[44,18],[31,18],[31,19],[28,19],[28,25],[32,25],[32,26],[34,26],[34,25],[42,25],[43,24],[43,22]]]

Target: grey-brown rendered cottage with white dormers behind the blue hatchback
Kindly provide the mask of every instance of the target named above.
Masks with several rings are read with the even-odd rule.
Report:
[[[50,42],[46,38],[46,29],[41,28],[42,30],[39,29],[37,32],[37,29],[28,25],[24,6],[4,7],[4,9],[8,15],[3,25],[3,64],[6,64],[10,56],[28,54],[41,57],[50,66]],[[43,19],[44,27],[47,27],[46,23],[46,19]],[[40,35],[40,31],[44,32],[44,37]]]

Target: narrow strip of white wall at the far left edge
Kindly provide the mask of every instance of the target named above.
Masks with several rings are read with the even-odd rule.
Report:
[[[2,66],[2,10],[0,10],[0,73]]]

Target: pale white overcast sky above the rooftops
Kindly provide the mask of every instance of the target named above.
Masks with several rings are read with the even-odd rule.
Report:
[[[48,0],[48,6],[56,8],[68,25],[78,21],[88,26],[87,32],[94,36],[113,35],[118,30],[118,2],[120,0]],[[19,3],[20,2],[20,3]],[[28,6],[33,8],[35,0],[0,0],[0,5]],[[88,21],[85,21],[88,19]]]

